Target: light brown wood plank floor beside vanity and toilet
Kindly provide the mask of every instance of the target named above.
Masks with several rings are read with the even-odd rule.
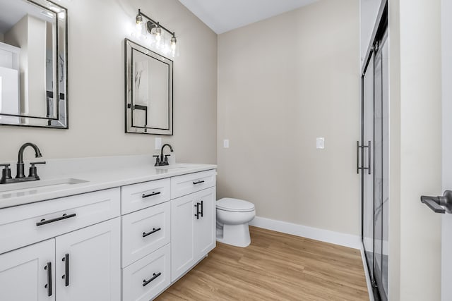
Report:
[[[250,230],[249,247],[217,242],[157,300],[369,300],[359,250]]]

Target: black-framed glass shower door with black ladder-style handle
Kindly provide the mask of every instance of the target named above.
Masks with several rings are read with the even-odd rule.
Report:
[[[388,33],[372,44],[362,75],[362,130],[357,171],[362,173],[362,244],[375,300],[388,295]]]

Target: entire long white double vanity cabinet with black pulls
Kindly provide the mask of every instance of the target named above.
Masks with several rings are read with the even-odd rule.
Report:
[[[0,208],[0,301],[153,300],[215,247],[206,167]]]

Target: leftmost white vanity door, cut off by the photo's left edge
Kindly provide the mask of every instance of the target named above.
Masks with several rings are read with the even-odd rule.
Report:
[[[55,240],[0,255],[0,300],[55,300]]]

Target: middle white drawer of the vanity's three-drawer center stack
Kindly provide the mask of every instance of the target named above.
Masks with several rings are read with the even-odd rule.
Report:
[[[122,266],[136,262],[169,242],[171,206],[158,204],[122,216]]]

